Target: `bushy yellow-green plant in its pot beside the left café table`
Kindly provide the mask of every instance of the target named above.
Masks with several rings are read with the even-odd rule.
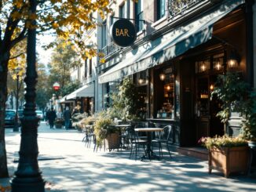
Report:
[[[112,119],[97,119],[94,125],[94,133],[96,136],[97,147],[106,144],[109,150],[119,148],[119,129],[113,125]]]

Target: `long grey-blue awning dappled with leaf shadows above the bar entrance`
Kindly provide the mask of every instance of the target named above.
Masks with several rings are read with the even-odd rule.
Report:
[[[221,2],[220,5],[215,6],[214,9],[200,16],[197,20],[177,27],[169,34],[144,45],[146,49],[141,52],[139,49],[133,50],[132,54],[126,56],[125,60],[101,74],[99,83],[112,82],[127,75],[144,71],[207,42],[212,37],[214,23],[243,3],[244,0]]]

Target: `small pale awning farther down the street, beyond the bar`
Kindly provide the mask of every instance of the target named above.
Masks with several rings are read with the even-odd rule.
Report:
[[[94,85],[84,85],[79,89],[76,89],[75,92],[71,92],[66,96],[66,100],[75,99],[76,97],[94,97]]]

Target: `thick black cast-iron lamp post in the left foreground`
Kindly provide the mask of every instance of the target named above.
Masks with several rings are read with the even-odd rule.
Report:
[[[29,13],[36,14],[36,0],[29,0]],[[31,24],[35,25],[35,16],[28,16]],[[11,180],[13,192],[41,192],[45,191],[45,182],[38,167],[38,121],[35,114],[35,85],[37,72],[35,68],[35,27],[28,29],[27,34],[27,71],[24,82],[26,94],[24,105],[24,118],[21,119],[20,159],[15,176]]]

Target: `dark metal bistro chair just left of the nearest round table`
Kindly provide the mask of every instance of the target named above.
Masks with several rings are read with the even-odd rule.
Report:
[[[130,144],[130,158],[133,154],[135,154],[135,160],[137,160],[137,153],[139,152],[140,147],[142,147],[145,153],[148,140],[144,136],[138,136],[137,132],[134,131],[134,126],[127,128],[127,138]]]

